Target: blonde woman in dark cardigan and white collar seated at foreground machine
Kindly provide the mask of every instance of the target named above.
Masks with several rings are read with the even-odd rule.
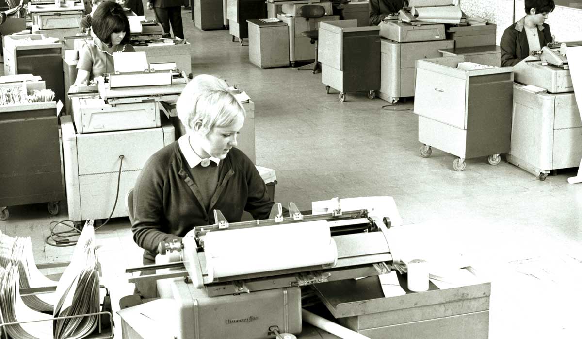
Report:
[[[159,242],[214,224],[214,210],[236,223],[243,211],[268,218],[274,204],[253,162],[236,149],[245,112],[225,82],[194,77],[176,108],[186,134],[150,157],[134,188],[133,239],[144,264],[154,263]],[[155,296],[155,283],[137,288]]]

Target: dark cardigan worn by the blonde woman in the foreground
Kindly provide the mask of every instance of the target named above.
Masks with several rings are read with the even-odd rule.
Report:
[[[150,157],[137,177],[133,193],[133,239],[144,250],[144,264],[154,263],[161,241],[181,239],[195,226],[214,224],[213,210],[230,223],[243,210],[255,219],[269,217],[273,202],[253,162],[231,149],[221,165],[210,208],[201,204],[200,190],[190,178],[185,158],[174,142]]]

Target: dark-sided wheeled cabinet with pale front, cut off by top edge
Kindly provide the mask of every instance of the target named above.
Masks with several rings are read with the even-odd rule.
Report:
[[[228,0],[227,6],[226,19],[229,20],[232,41],[235,41],[235,37],[239,38],[240,45],[243,45],[243,39],[249,37],[247,20],[264,18],[267,15],[267,3],[265,0]]]

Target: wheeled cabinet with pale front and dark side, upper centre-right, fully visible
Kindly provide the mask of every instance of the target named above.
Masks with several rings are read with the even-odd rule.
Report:
[[[357,20],[322,22],[319,33],[318,61],[321,82],[339,90],[339,101],[346,92],[368,91],[373,99],[380,87],[379,27],[357,27]]]

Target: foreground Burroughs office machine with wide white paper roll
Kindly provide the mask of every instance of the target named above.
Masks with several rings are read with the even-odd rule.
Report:
[[[160,243],[156,269],[129,281],[157,280],[161,298],[176,312],[168,324],[178,339],[259,339],[300,333],[301,286],[378,276],[395,263],[390,219],[367,210],[342,211],[339,199],[327,214],[289,216],[275,204],[275,218],[194,227],[182,241]]]

